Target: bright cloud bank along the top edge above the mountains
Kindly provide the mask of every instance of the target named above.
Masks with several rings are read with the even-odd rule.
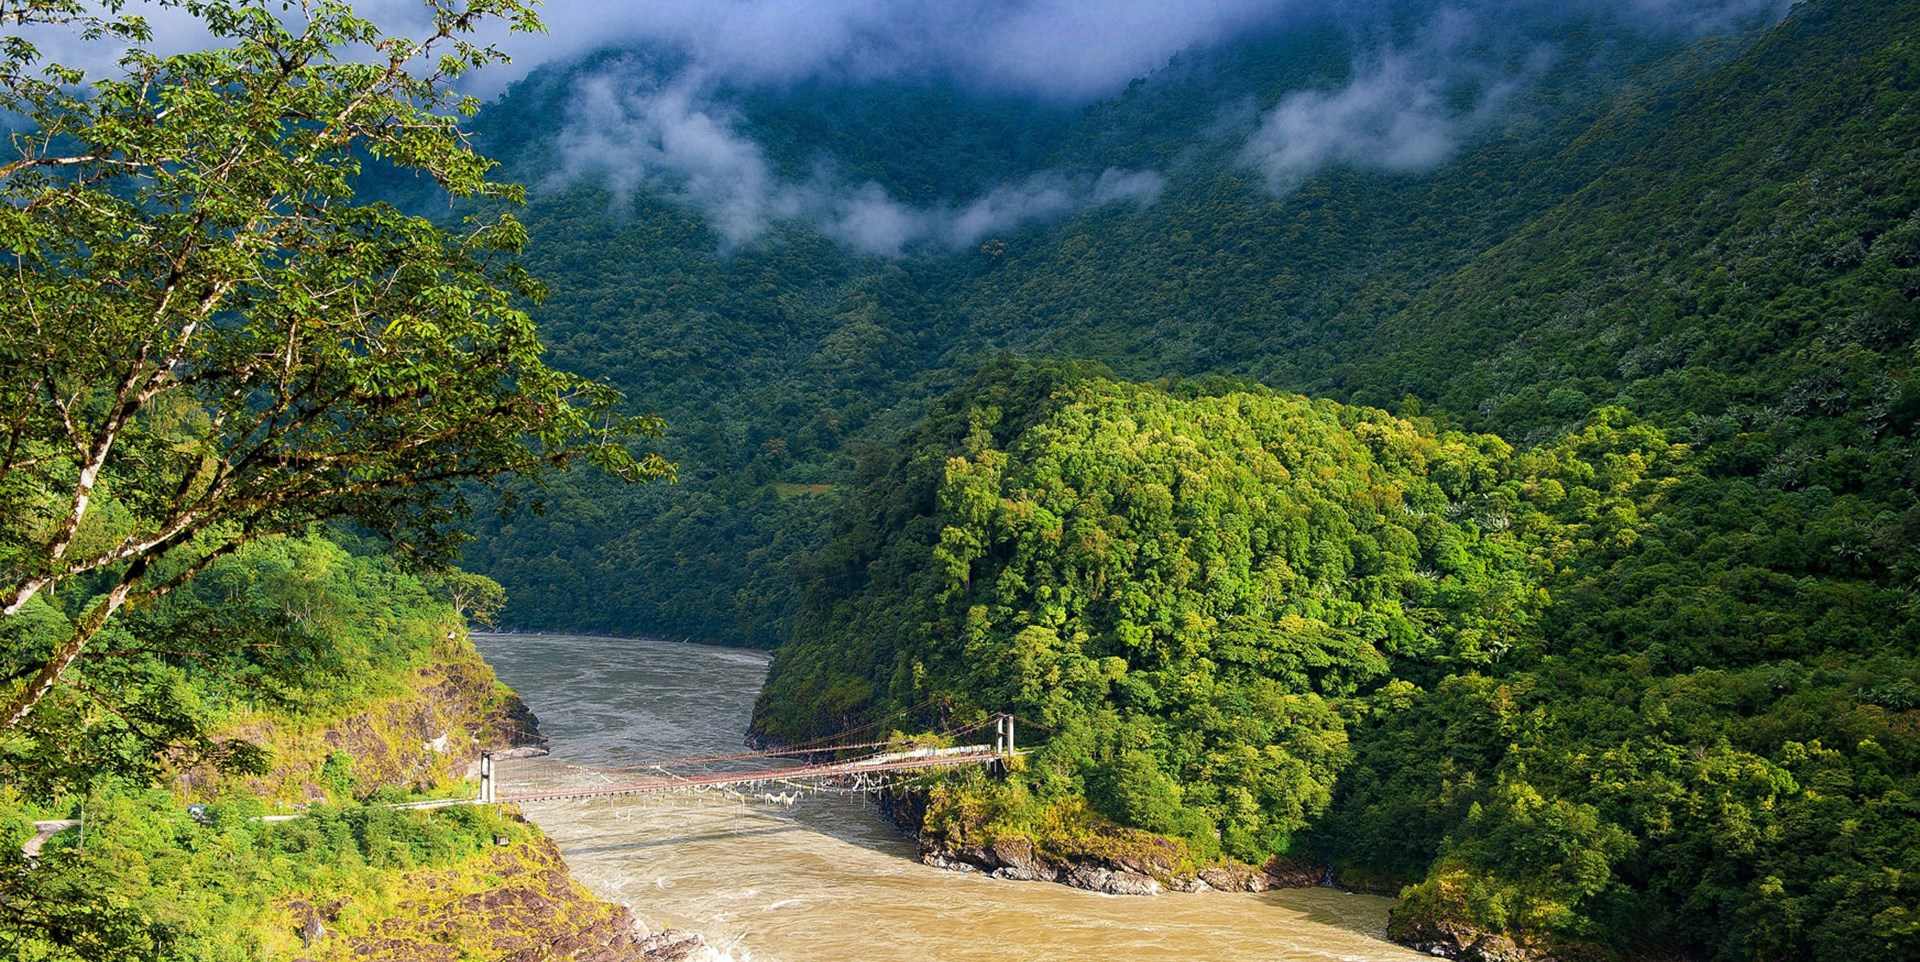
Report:
[[[1453,0],[1496,15],[1582,4],[1647,31],[1711,33],[1751,17],[1780,17],[1791,0]],[[388,35],[419,36],[430,23],[424,0],[353,6]],[[1386,8],[1386,0],[547,0],[538,6],[543,35],[507,35],[501,23],[480,33],[515,63],[468,83],[492,96],[540,63],[655,42],[733,83],[939,75],[1087,100],[1112,94],[1183,50],[1290,19],[1367,21]],[[148,17],[157,52],[207,42],[179,0],[131,0],[127,12]],[[83,44],[69,31],[35,31],[35,40],[56,60],[88,69],[108,69],[117,58],[113,48]]]

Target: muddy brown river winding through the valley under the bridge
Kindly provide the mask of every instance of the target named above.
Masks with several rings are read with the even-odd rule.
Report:
[[[476,634],[540,716],[551,758],[499,764],[501,791],[588,785],[660,757],[739,751],[766,657],[630,637]],[[764,762],[762,762],[764,766]],[[854,795],[730,793],[530,803],[574,876],[653,927],[737,962],[1386,962],[1388,899],[1334,889],[1112,897],[920,864]]]

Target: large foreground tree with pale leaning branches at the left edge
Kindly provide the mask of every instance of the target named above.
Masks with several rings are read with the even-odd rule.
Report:
[[[630,480],[659,422],[541,361],[513,259],[520,190],[459,121],[474,31],[536,31],[518,0],[426,0],[424,38],[338,2],[157,0],[217,48],[161,56],[109,0],[0,0],[0,628],[61,586],[67,637],[0,680],[15,730],[127,605],[242,543],[348,518],[440,559],[459,486],[588,459]],[[46,63],[71,31],[113,77]],[[355,194],[430,177],[457,228]]]

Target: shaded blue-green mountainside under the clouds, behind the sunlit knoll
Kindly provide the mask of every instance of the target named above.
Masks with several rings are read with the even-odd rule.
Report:
[[[716,223],[724,207],[689,200],[684,180],[618,167],[616,146],[568,150],[576,125],[605,121],[570,119],[588,109],[584,90],[605,77],[641,94],[672,88],[668,56],[609,52],[513,88],[478,125],[482,146],[534,184],[528,265],[551,288],[543,336],[559,363],[666,417],[682,474],[674,488],[563,478],[561,509],[482,528],[467,557],[509,588],[507,622],[778,645],[797,607],[793,566],[824,541],[828,501],[862,451],[883,451],[1000,349],[1091,357],[1137,378],[1250,373],[1357,390],[1329,380],[1350,326],[1380,325],[1607,171],[1747,42],[1540,4],[1511,13],[1503,44],[1430,52],[1432,4],[1386,6],[1394,15],[1369,29],[1306,21],[1183,56],[1079,111],[939,81],[710,94],[701,117],[753,140],[766,177],[824,163],[891,196],[958,204],[995,182],[1023,196],[1035,171],[1060,182],[1165,171],[1152,204],[899,255],[851,248],[804,217],[735,244]],[[1380,44],[1469,63],[1432,81],[1488,102],[1457,121],[1457,156],[1411,175],[1334,163],[1271,192],[1242,156],[1260,109],[1367,83]],[[612,129],[636,138],[634,165],[672,132]],[[597,165],[566,175],[582,156]],[[756,182],[733,186],[751,196]]]

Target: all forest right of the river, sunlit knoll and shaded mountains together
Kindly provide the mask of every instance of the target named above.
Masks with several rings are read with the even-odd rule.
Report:
[[[1452,154],[1250,161],[1380,36],[1417,48],[1432,8],[1392,10],[1077,111],[707,92],[785,182],[1162,175],[968,244],[545,180],[555,353],[666,413],[687,470],[482,530],[507,620],[787,641],[774,735],[929,699],[1046,726],[947,828],[1044,835],[1079,799],[1196,858],[1411,885],[1407,926],[1914,956],[1920,4],[1705,38],[1523,6],[1551,56],[1453,50]],[[564,169],[520,121],[636,60],[534,75],[507,154]]]

